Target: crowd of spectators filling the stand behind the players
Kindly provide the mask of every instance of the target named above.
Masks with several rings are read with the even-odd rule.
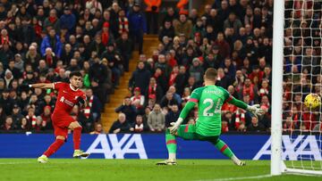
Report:
[[[2,130],[52,129],[55,92],[27,85],[68,81],[71,71],[80,70],[88,107],[79,111],[75,106],[72,115],[85,132],[102,133],[103,104],[129,70],[136,43],[140,60],[129,82],[132,95],[115,109],[119,117],[109,133],[164,131],[210,67],[217,70],[216,86],[267,111],[256,118],[225,103],[222,131],[270,130],[273,0],[216,0],[204,14],[186,11],[184,1],[165,11],[161,0],[13,2],[0,0]],[[302,99],[321,90],[321,3],[305,3],[305,12],[291,10],[302,3],[285,1],[285,131],[316,129],[320,120]],[[147,57],[143,35],[156,33],[157,27],[160,43]],[[194,124],[197,117],[191,111],[186,122]]]

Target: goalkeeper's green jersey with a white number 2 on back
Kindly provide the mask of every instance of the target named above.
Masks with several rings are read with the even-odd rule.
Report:
[[[244,110],[247,109],[246,103],[235,99],[223,87],[202,86],[191,93],[191,98],[180,113],[180,118],[185,119],[197,103],[196,133],[201,136],[219,136],[221,134],[221,109],[225,102]]]

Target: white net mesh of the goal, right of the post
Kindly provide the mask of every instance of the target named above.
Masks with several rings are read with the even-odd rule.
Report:
[[[283,159],[287,168],[322,170],[321,108],[303,101],[322,93],[321,0],[285,0]]]

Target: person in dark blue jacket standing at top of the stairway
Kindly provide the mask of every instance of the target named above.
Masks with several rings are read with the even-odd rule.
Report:
[[[133,43],[138,42],[139,54],[143,53],[143,35],[147,33],[147,22],[145,16],[140,12],[140,4],[134,3],[131,11],[128,12],[127,18],[130,24],[130,36]]]

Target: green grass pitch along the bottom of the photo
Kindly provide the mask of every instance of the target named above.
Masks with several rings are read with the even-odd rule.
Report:
[[[179,160],[177,166],[156,166],[157,161],[51,159],[40,164],[36,159],[0,159],[0,180],[217,180],[269,173],[267,160],[249,160],[246,167],[234,166],[230,160]],[[259,180],[308,181],[322,177],[284,175]]]

